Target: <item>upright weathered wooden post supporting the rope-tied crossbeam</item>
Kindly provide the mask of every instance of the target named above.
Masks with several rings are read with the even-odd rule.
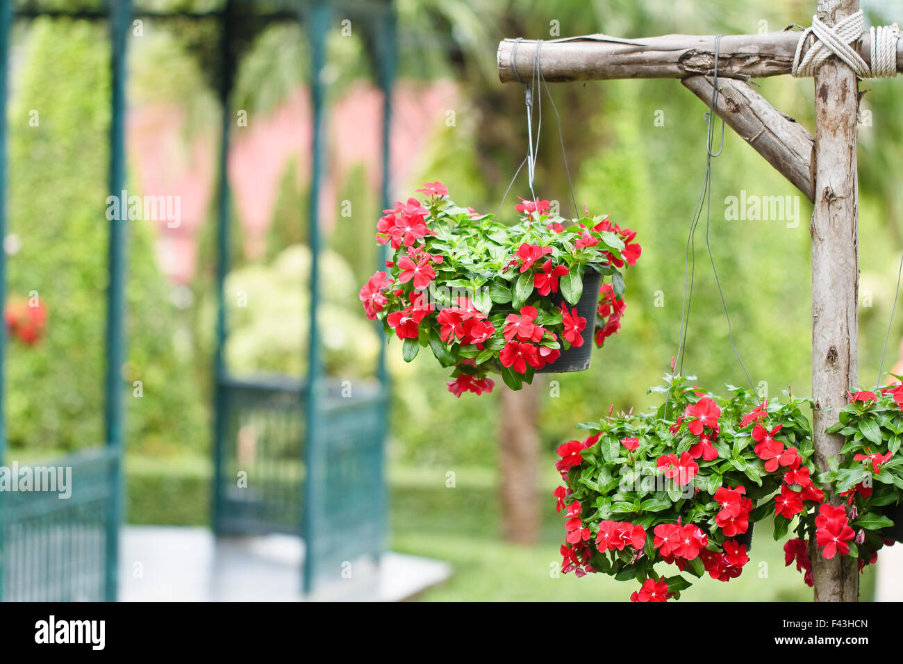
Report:
[[[819,0],[818,17],[834,25],[859,0]],[[849,66],[831,58],[815,72],[815,210],[812,214],[812,397],[815,464],[840,454],[843,437],[824,429],[856,388],[859,295],[856,123],[859,85]],[[829,410],[830,409],[830,410]],[[836,495],[830,496],[839,504]],[[855,602],[859,570],[849,556],[825,560],[812,548],[816,602]]]

